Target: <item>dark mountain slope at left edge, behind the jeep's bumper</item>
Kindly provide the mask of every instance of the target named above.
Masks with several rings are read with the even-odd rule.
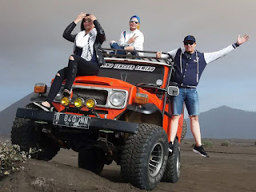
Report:
[[[30,97],[34,95],[34,92],[18,100],[14,104],[11,104],[8,108],[0,112],[0,134],[10,135],[10,130],[13,125],[13,121],[16,115],[17,108],[23,108],[26,104],[30,103]]]

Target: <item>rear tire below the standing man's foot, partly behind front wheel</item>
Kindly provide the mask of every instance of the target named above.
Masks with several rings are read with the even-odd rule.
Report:
[[[178,182],[181,168],[180,151],[178,139],[175,139],[174,151],[168,155],[166,171],[163,174],[162,182]]]

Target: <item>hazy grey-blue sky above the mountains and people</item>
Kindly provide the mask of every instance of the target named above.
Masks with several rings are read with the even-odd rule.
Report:
[[[134,14],[141,18],[144,50],[170,51],[192,34],[198,51],[214,52],[249,33],[250,41],[206,67],[198,93],[200,112],[222,105],[256,111],[255,0],[0,1],[0,111],[33,92],[35,83],[50,85],[67,65],[73,45],[62,33],[82,11],[105,29],[102,47],[118,41]]]

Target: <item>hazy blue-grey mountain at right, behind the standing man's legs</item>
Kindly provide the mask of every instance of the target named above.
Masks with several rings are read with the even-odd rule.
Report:
[[[256,139],[256,112],[222,106],[199,114],[202,138]],[[193,138],[186,119],[186,139]]]

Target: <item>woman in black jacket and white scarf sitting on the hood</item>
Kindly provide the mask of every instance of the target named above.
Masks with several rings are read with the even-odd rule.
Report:
[[[81,32],[71,34],[78,22],[81,22]],[[63,80],[66,79],[63,96],[70,96],[76,76],[97,76],[100,65],[105,63],[101,45],[106,40],[106,36],[93,14],[78,14],[74,22],[64,30],[63,37],[67,41],[74,42],[74,54],[70,56],[68,66],[57,72],[46,101],[34,102],[45,111],[50,111],[51,103],[58,94]]]

